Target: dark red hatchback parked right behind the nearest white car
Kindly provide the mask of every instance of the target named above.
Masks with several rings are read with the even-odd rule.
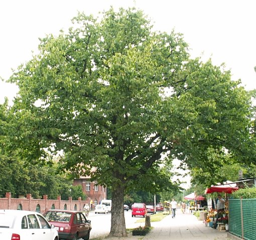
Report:
[[[90,237],[91,220],[87,220],[82,211],[51,209],[43,215],[58,230],[59,239],[88,240]]]

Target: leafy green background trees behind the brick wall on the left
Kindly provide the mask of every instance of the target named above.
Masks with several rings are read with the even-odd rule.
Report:
[[[68,199],[69,196],[77,199],[77,190],[69,191],[72,179],[68,174],[58,172],[56,162],[51,165],[44,162],[34,164],[21,157],[26,150],[20,147],[12,150],[12,118],[13,114],[6,99],[4,104],[0,104],[0,196],[4,197],[6,192],[11,192],[14,197],[31,193],[34,198],[42,198],[47,194],[51,199],[57,199],[58,195],[62,199]],[[80,196],[85,198],[83,193],[82,195]]]

